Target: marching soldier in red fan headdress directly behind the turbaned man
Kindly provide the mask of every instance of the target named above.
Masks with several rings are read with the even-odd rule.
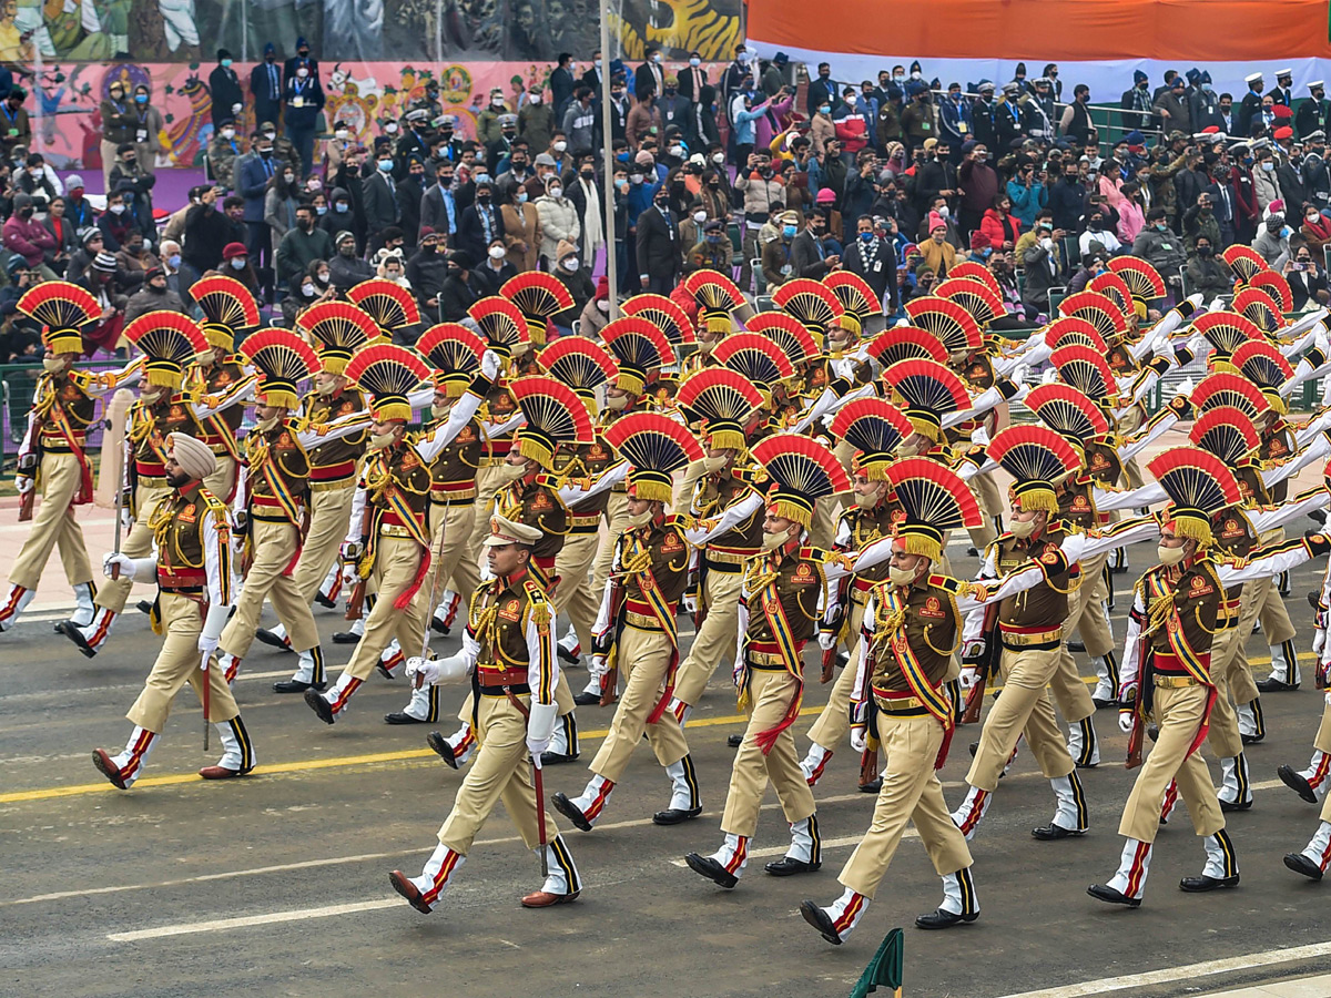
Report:
[[[132,463],[125,468],[133,488],[133,500],[124,504],[121,518],[133,520],[121,554],[145,558],[152,552],[153,535],[146,516],[170,494],[166,482],[166,438],[173,432],[202,436],[202,420],[242,402],[253,391],[253,381],[234,382],[222,397],[202,397],[182,391],[185,365],[209,350],[198,325],[178,311],[150,311],[125,327],[125,338],[144,351],[146,386],[129,409],[126,436]],[[87,657],[93,657],[106,644],[125,609],[130,582],[113,579],[104,583],[95,600],[97,612],[92,621],[79,625],[64,620],[56,629],[73,641]]]

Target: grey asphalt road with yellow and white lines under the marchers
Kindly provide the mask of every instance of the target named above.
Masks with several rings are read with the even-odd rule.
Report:
[[[1138,570],[1149,558],[1145,547],[1133,551]],[[954,563],[973,567],[972,559]],[[1311,617],[1303,593],[1320,571],[1306,566],[1296,572],[1290,597],[1304,656]],[[1125,593],[1115,619],[1119,636],[1133,579],[1115,576]],[[319,609],[317,620],[335,672],[350,649],[333,645],[330,635],[345,621]],[[455,637],[435,640],[441,652],[455,645]],[[604,824],[583,834],[559,818],[586,882],[578,904],[519,908],[518,897],[539,886],[539,864],[500,809],[442,906],[423,917],[393,893],[387,872],[419,870],[461,773],[425,747],[426,727],[383,724],[386,711],[406,703],[406,683],[371,677],[350,713],[326,728],[299,697],[270,692],[294,656],[256,644],[237,693],[260,770],[225,784],[193,776],[214,761],[217,743],[213,754],[202,753],[200,712],[186,692],[148,776],[121,793],[96,773],[89,753],[124,744],[129,728],[122,713],[156,649],[140,615],[130,615],[95,660],[40,620],[24,619],[0,637],[0,994],[844,995],[882,935],[902,925],[908,995],[997,998],[1326,937],[1331,886],[1312,885],[1280,862],[1316,826],[1318,809],[1275,778],[1278,764],[1302,768],[1308,757],[1322,696],[1307,672],[1298,693],[1263,700],[1270,733],[1248,750],[1256,806],[1230,818],[1239,889],[1214,896],[1177,889],[1178,878],[1198,873],[1203,861],[1181,806],[1158,840],[1141,910],[1110,909],[1086,897],[1087,884],[1103,882],[1114,870],[1122,842],[1118,816],[1131,785],[1121,765],[1126,739],[1113,712],[1101,712],[1103,762],[1082,773],[1093,824],[1085,838],[1030,837],[1029,829],[1053,813],[1053,794],[1024,750],[972,844],[980,921],[933,934],[909,927],[938,902],[940,885],[924,849],[908,840],[857,934],[832,947],[796,908],[801,898],[827,904],[840,893],[837,872],[868,826],[872,798],[856,792],[856,760],[848,749],[837,753],[816,790],[825,840],[821,872],[789,880],[761,872],[788,841],[771,793],[753,842],[757,854],[739,888],[720,890],[683,866],[685,852],[711,852],[720,842],[732,754],[725,736],[741,731],[728,672],[717,675],[688,728],[704,793],[700,820],[651,825],[651,813],[667,802],[668,781],[643,747]],[[1248,652],[1264,676],[1267,649],[1259,635]],[[575,669],[578,685],[582,677]],[[461,692],[447,697],[445,729],[453,727],[457,697]],[[825,699],[827,688],[809,689],[807,716],[796,728],[801,750]],[[586,762],[610,711],[584,708],[579,717]],[[942,773],[953,806],[969,762],[965,745],[977,732],[958,732]],[[1211,768],[1218,778],[1214,760]],[[551,768],[546,790],[575,794],[586,778],[580,764]],[[1318,963],[1202,983],[1310,967]],[[1198,986],[1143,983],[1129,993],[1195,993]]]

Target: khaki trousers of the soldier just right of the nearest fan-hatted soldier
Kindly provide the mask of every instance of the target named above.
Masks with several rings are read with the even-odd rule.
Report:
[[[1067,776],[1075,765],[1067,754],[1063,729],[1054,717],[1053,704],[1045,687],[1058,668],[1061,648],[1049,651],[1013,649],[1002,651],[1004,688],[997,703],[985,717],[980,732],[980,748],[966,773],[972,786],[993,793],[998,789],[998,777],[1012,757],[1013,748],[1022,732],[1030,745],[1040,772],[1049,780]]]

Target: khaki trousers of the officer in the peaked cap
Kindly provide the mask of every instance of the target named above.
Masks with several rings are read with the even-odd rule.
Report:
[[[531,695],[523,693],[518,700],[530,707]],[[439,828],[439,841],[466,856],[495,804],[503,800],[522,841],[528,849],[535,849],[540,845],[540,829],[536,825],[536,786],[531,780],[531,756],[527,752],[527,719],[508,697],[482,696],[476,728],[480,749],[462,778],[453,810]],[[544,813],[546,841],[554,842],[559,828],[550,816],[550,808]]]

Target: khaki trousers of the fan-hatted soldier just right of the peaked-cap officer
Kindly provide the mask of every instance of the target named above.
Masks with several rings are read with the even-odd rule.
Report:
[[[671,644],[664,631],[626,627],[620,633],[615,657],[620,675],[626,677],[624,692],[610,723],[610,733],[588,766],[596,776],[618,784],[644,733],[663,766],[673,765],[688,754],[684,732],[671,711],[662,712],[656,724],[647,723],[666,689],[669,656]]]

